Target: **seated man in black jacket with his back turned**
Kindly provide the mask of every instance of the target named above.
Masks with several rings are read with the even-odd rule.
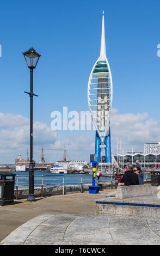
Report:
[[[133,171],[133,164],[128,163],[124,176],[118,186],[139,185],[138,175]]]

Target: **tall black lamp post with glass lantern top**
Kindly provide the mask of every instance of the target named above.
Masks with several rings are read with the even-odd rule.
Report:
[[[37,53],[33,47],[27,52],[23,52],[27,66],[30,69],[30,162],[29,162],[29,194],[28,201],[35,201],[34,197],[34,161],[33,161],[33,96],[38,96],[33,93],[33,70],[36,68],[36,64],[40,58],[40,54]],[[27,93],[27,92],[24,92]]]

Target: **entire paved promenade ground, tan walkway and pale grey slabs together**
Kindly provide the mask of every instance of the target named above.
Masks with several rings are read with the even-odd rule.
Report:
[[[157,188],[152,189],[156,194]],[[95,216],[95,200],[110,191],[37,198],[32,203],[20,199],[0,206],[1,245],[160,245],[157,219]]]

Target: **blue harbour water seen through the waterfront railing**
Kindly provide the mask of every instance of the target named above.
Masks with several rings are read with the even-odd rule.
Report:
[[[18,185],[21,187],[28,187],[28,172],[11,172],[19,176],[18,178]],[[53,174],[53,173],[41,173],[35,172],[34,173],[34,185],[41,186],[42,178],[41,176],[44,175],[44,187],[45,186],[61,186],[63,183],[63,174]],[[46,176],[45,176],[46,175]],[[81,184],[81,177],[82,181],[87,182],[85,184],[92,183],[92,175],[87,174],[65,174],[64,182],[65,185],[78,185]],[[146,179],[146,175],[144,175],[144,180]],[[147,179],[150,180],[150,175],[147,175]],[[100,182],[110,182],[111,178],[109,177],[100,177]],[[114,177],[113,177],[114,182]],[[74,184],[76,183],[76,184]],[[15,185],[16,185],[16,177],[15,177]]]

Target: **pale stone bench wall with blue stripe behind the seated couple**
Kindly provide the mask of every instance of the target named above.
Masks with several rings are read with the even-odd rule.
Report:
[[[120,186],[114,195],[96,201],[95,215],[159,218],[160,200],[153,195],[151,184]]]

